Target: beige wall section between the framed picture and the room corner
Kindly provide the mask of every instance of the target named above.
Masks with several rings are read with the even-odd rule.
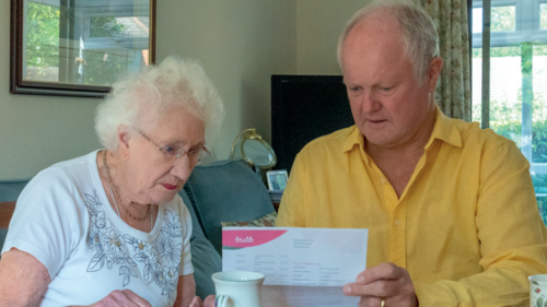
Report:
[[[293,0],[158,1],[158,60],[199,59],[224,101],[217,158],[247,128],[270,141],[270,75],[296,73],[295,12]]]

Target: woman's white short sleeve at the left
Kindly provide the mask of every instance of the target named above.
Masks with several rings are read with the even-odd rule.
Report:
[[[34,256],[54,279],[82,238],[84,214],[67,175],[48,168],[36,175],[18,199],[2,253],[18,248]]]

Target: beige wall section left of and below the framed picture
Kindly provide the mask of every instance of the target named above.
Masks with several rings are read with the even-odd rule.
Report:
[[[0,2],[0,179],[23,178],[98,147],[100,99],[10,95],[10,1]]]

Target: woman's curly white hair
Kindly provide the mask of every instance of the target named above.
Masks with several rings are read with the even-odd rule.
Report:
[[[154,129],[177,106],[203,122],[206,144],[210,147],[224,117],[222,101],[198,62],[174,57],[115,83],[110,94],[97,107],[95,130],[102,145],[114,151],[118,146],[117,134],[121,125]]]

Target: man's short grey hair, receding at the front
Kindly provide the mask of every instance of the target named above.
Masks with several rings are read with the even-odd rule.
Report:
[[[399,25],[405,42],[405,50],[414,66],[420,84],[426,79],[431,60],[440,56],[439,34],[431,16],[418,4],[405,0],[376,0],[358,11],[346,24],[338,39],[338,63],[341,62],[342,45],[350,31],[361,21],[383,12],[393,16]]]

